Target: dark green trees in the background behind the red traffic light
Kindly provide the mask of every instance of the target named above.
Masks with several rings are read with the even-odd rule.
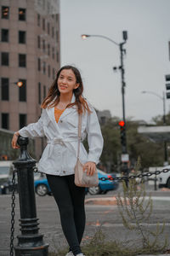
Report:
[[[167,115],[167,123],[170,120],[170,113]],[[116,171],[120,165],[122,146],[120,140],[120,128],[118,122],[120,119],[113,117],[105,125],[101,126],[104,137],[104,148],[100,160],[107,167],[108,162],[113,166],[112,171]],[[162,125],[162,117],[153,119],[156,125]],[[138,133],[140,123],[127,119],[127,152],[130,156],[131,165],[134,165],[138,156],[141,157],[141,169],[149,166],[162,166],[164,161],[163,143],[154,143],[149,138]]]

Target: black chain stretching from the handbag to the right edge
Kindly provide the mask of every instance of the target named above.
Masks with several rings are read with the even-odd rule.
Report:
[[[102,181],[105,181],[105,180],[114,180],[114,181],[123,181],[123,180],[129,180],[129,179],[132,179],[132,178],[137,178],[137,177],[150,177],[152,175],[159,175],[161,172],[163,173],[166,173],[166,172],[169,172],[170,169],[163,169],[161,171],[156,171],[156,172],[147,172],[147,173],[140,173],[138,175],[130,175],[130,176],[122,176],[122,177],[99,177],[100,180]]]

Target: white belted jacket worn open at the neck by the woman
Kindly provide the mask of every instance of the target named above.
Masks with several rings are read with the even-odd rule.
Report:
[[[71,102],[75,102],[73,94]],[[80,160],[82,164],[93,161],[99,162],[103,148],[99,120],[94,108],[88,103],[92,113],[82,115],[82,141],[88,134],[87,153],[83,144],[80,146]],[[54,108],[42,109],[42,115],[37,123],[25,126],[19,131],[22,137],[47,137],[48,144],[38,163],[38,171],[52,175],[71,175],[77,162],[78,146],[78,113],[76,106],[66,108],[61,114],[59,122],[54,118]]]

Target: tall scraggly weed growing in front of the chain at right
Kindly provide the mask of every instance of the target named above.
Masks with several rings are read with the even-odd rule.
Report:
[[[139,164],[139,163],[138,163]],[[137,167],[138,172],[139,165]],[[151,231],[149,225],[150,216],[152,213],[151,196],[146,200],[146,192],[144,184],[141,183],[140,189],[134,178],[129,180],[128,187],[122,183],[122,196],[119,194],[116,197],[119,212],[122,216],[122,223],[127,230],[135,230],[139,237],[142,237],[142,250],[146,252],[161,252],[167,247],[167,239],[162,244],[159,241],[160,235],[164,231],[164,224],[156,224],[156,230]]]

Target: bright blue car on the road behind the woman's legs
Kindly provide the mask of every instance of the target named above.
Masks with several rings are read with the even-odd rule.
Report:
[[[86,192],[90,195],[98,195],[98,194],[106,194],[110,190],[114,190],[118,188],[118,182],[114,181],[115,174],[108,174],[105,172],[98,170],[98,176],[100,177],[112,177],[113,180],[99,180],[99,185],[96,187],[86,188]],[[35,180],[34,181],[35,191],[37,195],[44,196],[44,195],[52,195],[51,189],[48,185],[47,178]]]

